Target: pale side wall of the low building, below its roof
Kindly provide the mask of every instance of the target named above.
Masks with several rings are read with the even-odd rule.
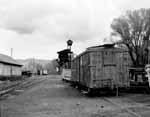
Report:
[[[21,75],[21,67],[0,63],[0,75]]]

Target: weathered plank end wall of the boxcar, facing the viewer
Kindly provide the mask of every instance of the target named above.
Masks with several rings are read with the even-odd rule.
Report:
[[[95,62],[96,80],[94,80],[93,85],[111,88],[114,86],[129,86],[128,68],[130,64],[128,53],[117,49],[105,49],[99,53],[101,53],[99,59],[101,62]],[[95,59],[96,56],[93,56],[93,58]]]

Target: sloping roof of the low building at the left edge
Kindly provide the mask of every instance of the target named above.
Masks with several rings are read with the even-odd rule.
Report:
[[[4,55],[4,54],[0,54],[0,63],[22,66],[22,64],[14,60],[12,57]]]

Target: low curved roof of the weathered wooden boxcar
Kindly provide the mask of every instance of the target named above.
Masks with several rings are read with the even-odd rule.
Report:
[[[106,51],[106,50],[111,50],[111,51],[115,51],[115,52],[128,52],[127,49],[115,47],[115,44],[104,44],[104,45],[99,45],[99,46],[88,47],[84,52],[79,54],[76,58],[78,58],[88,52],[97,52],[97,51]]]

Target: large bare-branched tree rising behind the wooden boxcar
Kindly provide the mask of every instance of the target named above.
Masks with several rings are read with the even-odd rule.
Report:
[[[148,62],[147,44],[150,35],[150,9],[127,11],[113,20],[113,34],[120,36],[122,43],[129,49],[134,66],[143,66]]]

